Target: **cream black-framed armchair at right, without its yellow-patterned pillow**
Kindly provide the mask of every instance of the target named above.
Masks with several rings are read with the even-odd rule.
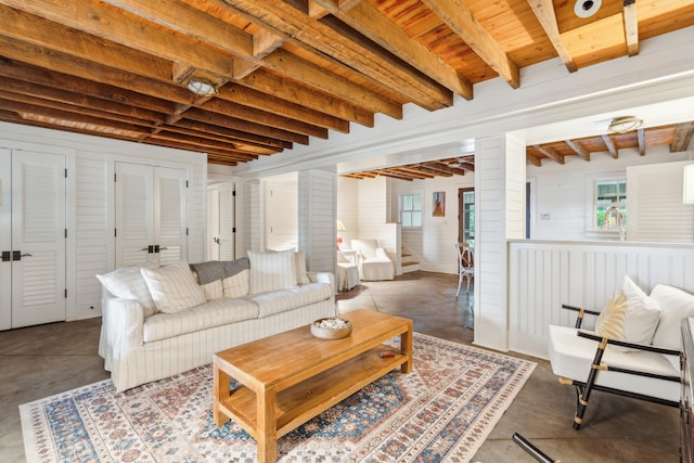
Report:
[[[567,305],[562,307],[578,311],[576,325],[550,325],[552,371],[560,383],[576,387],[574,429],[583,422],[592,390],[679,407],[681,326],[682,320],[694,317],[694,295],[658,284],[650,297],[660,306],[650,345],[614,340],[583,330],[583,317],[600,312]]]

